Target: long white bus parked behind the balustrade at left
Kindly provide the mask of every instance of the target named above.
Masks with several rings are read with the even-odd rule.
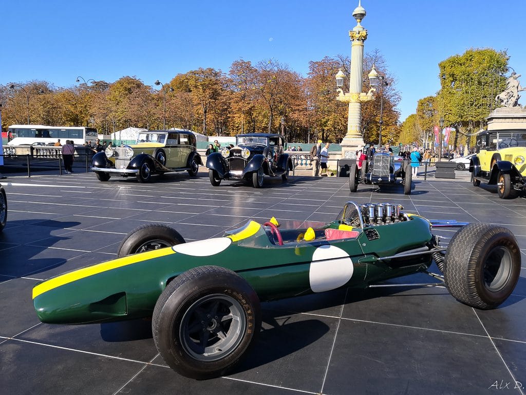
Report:
[[[98,138],[97,129],[77,126],[11,125],[7,129],[8,145],[53,145],[58,139],[64,145],[66,140],[82,145],[92,145]]]

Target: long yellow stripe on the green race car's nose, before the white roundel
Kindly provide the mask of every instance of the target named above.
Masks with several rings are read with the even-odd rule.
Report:
[[[160,256],[166,256],[170,254],[175,254],[175,251],[172,250],[171,247],[163,248],[159,250],[143,252],[140,254],[124,256],[123,258],[114,259],[113,261],[99,263],[97,265],[88,266],[87,268],[65,273],[36,285],[33,288],[33,299],[44,292],[58,288],[73,281],[85,279],[86,277],[103,273],[108,270],[122,268],[122,266],[147,261],[149,259],[159,258]]]

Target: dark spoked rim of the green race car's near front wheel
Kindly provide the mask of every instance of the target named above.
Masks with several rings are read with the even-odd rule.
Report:
[[[238,347],[246,325],[245,312],[237,300],[223,294],[207,295],[185,312],[179,339],[190,357],[217,361]]]

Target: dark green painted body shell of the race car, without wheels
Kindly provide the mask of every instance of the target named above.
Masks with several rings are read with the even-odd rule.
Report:
[[[42,289],[49,284],[46,284],[47,281],[59,281],[76,272],[36,284],[34,307],[39,319],[48,323],[95,323],[150,317],[169,281],[180,273],[204,265],[222,266],[237,272],[247,280],[261,301],[305,295],[313,292],[309,277],[313,254],[316,250],[333,247],[344,251],[348,255],[345,259],[350,258],[352,262],[352,275],[341,287],[365,288],[371,283],[427,270],[431,264],[430,254],[379,259],[428,245],[432,234],[426,219],[411,216],[405,221],[388,225],[355,228],[359,235],[353,239],[327,240],[322,235],[324,229],[338,229],[339,225],[339,222],[331,222],[316,230],[317,238],[312,241],[296,241],[298,234],[305,232],[305,229],[282,230],[284,245],[281,246],[271,240],[273,236],[268,230],[259,226],[254,234],[237,241],[232,238],[234,241],[226,249],[210,256],[167,251],[177,250],[178,246],[164,249],[166,251],[157,250],[159,255],[166,254],[147,260],[143,260],[141,255],[151,254],[152,251],[128,256],[124,259],[133,259],[135,263],[75,281],[65,281],[35,295],[38,287]],[[245,228],[247,226],[249,224]],[[243,230],[228,232],[225,236]],[[371,232],[377,236],[376,240],[369,240]],[[193,243],[201,243],[199,248],[206,248],[206,242],[213,243],[214,240],[218,239]],[[193,243],[180,245],[190,248]],[[316,262],[319,265],[326,261],[330,259]]]

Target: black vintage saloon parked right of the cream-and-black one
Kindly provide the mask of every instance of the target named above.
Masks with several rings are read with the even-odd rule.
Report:
[[[238,134],[235,147],[208,155],[210,183],[219,186],[221,180],[248,180],[260,188],[265,174],[280,175],[286,181],[293,167],[289,155],[284,153],[285,143],[281,134]]]

